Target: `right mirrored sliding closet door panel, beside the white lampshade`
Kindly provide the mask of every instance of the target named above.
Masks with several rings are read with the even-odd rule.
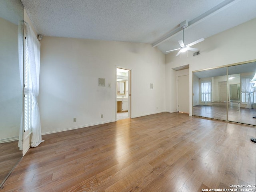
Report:
[[[228,66],[230,102],[228,120],[256,125],[256,90],[250,83],[256,72],[256,62]],[[238,92],[238,93],[237,93]]]

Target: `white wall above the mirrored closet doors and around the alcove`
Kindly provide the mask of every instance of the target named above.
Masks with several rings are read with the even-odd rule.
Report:
[[[189,52],[180,57],[175,57],[176,52],[171,52],[166,55],[166,87],[173,88],[176,82],[171,80],[174,75],[172,68],[179,66],[190,65],[190,115],[192,115],[192,71],[223,66],[238,62],[256,59],[256,19],[250,20],[244,24],[236,26],[230,30],[226,30],[212,37],[206,38],[193,47],[199,48],[200,56],[192,56]],[[166,106],[174,109],[176,104],[176,96],[170,91],[166,91]]]

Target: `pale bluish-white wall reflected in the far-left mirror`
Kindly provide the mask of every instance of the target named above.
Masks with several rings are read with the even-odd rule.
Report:
[[[0,142],[19,136],[22,84],[18,62],[18,25],[0,18]]]

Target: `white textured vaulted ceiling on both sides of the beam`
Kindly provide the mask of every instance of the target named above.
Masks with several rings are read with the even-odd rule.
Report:
[[[188,44],[256,18],[255,0],[21,0],[38,34],[153,44],[184,21],[224,8],[186,28]],[[177,33],[159,45],[179,48]],[[185,40],[185,41],[186,41]]]

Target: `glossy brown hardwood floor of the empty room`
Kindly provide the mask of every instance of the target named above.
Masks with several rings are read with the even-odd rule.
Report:
[[[2,192],[198,192],[256,184],[256,128],[181,113],[44,135]],[[255,189],[255,187],[243,187]]]

